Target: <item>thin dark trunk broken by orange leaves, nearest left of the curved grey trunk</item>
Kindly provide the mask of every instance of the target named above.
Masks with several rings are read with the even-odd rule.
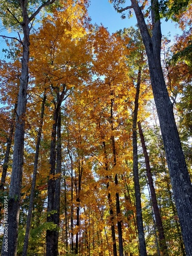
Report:
[[[113,103],[114,100],[111,99],[111,130],[114,131],[113,127]],[[113,150],[113,166],[115,167],[117,164],[116,161],[116,147],[115,147],[115,137],[111,136],[112,141],[112,150]],[[115,185],[118,185],[118,177],[115,175]],[[117,228],[118,228],[118,240],[119,240],[119,256],[123,256],[123,239],[122,239],[122,219],[121,219],[121,211],[120,211],[120,202],[119,202],[119,193],[116,193],[116,211],[117,211]]]

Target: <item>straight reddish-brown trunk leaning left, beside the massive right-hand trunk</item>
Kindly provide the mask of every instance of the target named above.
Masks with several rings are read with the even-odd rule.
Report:
[[[160,215],[160,211],[159,211],[159,207],[158,207],[158,203],[157,203],[157,197],[156,197],[156,192],[155,192],[155,187],[154,187],[154,182],[153,182],[153,177],[152,177],[152,172],[151,172],[151,166],[150,166],[150,158],[148,157],[148,153],[146,150],[144,135],[143,135],[143,131],[141,129],[140,122],[138,122],[138,128],[139,128],[139,135],[141,138],[141,144],[142,144],[142,148],[143,148],[143,154],[144,154],[144,158],[145,158],[145,166],[146,166],[148,185],[150,187],[152,205],[153,205],[157,230],[158,230],[158,234],[159,234],[160,251],[161,251],[162,255],[167,256],[168,255],[167,245],[166,245],[166,241],[165,241],[163,223],[162,223],[162,219],[161,219],[161,215]]]

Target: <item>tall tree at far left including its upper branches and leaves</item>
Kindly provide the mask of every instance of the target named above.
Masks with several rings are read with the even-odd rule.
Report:
[[[35,1],[38,6],[35,12],[31,14],[31,6],[34,5],[34,1],[16,1],[9,3],[2,1],[2,7],[4,15],[9,13],[14,22],[22,28],[24,35],[23,40],[19,39],[23,46],[22,56],[22,69],[19,79],[19,92],[17,102],[17,114],[15,124],[15,137],[14,137],[14,152],[13,152],[13,167],[11,174],[11,184],[9,189],[9,200],[8,200],[8,241],[9,248],[8,253],[2,246],[2,255],[16,255],[17,249],[17,236],[18,236],[18,218],[19,218],[19,205],[20,205],[20,191],[22,188],[22,175],[23,175],[23,158],[24,158],[24,136],[25,136],[25,114],[26,114],[26,103],[27,103],[27,89],[29,81],[29,46],[30,46],[30,30],[32,26],[30,23],[36,17],[36,15],[45,6],[49,6],[55,2],[55,0],[48,0],[47,2]],[[12,11],[14,10],[14,12]],[[17,16],[17,11],[19,14]],[[4,22],[4,18],[3,18]],[[5,242],[5,237],[4,237]]]

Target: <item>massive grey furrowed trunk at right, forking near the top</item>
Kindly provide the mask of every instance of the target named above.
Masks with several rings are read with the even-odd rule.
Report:
[[[158,0],[152,1],[152,36],[136,0],[131,0],[145,46],[154,100],[159,117],[170,181],[181,225],[187,255],[192,251],[192,185],[175,122],[173,104],[169,99],[161,67],[161,25]]]

